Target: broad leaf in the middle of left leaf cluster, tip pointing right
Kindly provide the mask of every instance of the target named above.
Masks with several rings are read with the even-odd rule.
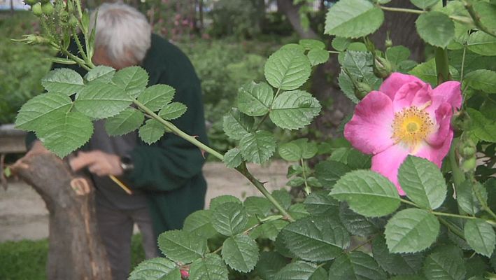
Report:
[[[118,87],[99,81],[89,83],[80,90],[74,102],[78,111],[94,119],[115,116],[131,104],[132,99]]]

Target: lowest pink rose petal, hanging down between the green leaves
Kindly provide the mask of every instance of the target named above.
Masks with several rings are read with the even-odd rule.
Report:
[[[405,193],[398,183],[398,169],[407,155],[409,155],[407,148],[400,145],[393,145],[372,157],[371,170],[387,177],[394,183],[399,195],[405,195]]]

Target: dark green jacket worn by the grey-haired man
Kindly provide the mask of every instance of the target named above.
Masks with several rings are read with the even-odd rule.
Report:
[[[171,85],[176,89],[173,101],[187,106],[186,113],[172,123],[207,144],[200,82],[190,60],[175,45],[154,34],[141,66],[150,76],[148,86]],[[78,66],[53,65],[59,67],[69,67],[81,76],[86,73]],[[204,208],[206,181],[201,167],[205,160],[201,151],[171,133],[152,145],[141,140],[138,143],[131,153],[135,168],[127,175],[130,187],[146,193],[157,236],[182,228],[189,214]]]

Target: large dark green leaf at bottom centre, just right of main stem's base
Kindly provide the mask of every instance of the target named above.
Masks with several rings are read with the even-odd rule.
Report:
[[[283,228],[281,235],[290,251],[302,260],[332,260],[350,244],[346,229],[331,216],[302,218]]]

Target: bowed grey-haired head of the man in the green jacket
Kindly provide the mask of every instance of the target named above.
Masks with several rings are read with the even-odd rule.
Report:
[[[95,16],[94,64],[115,69],[140,64],[151,44],[145,15],[124,3],[104,3],[92,13],[92,25]]]

